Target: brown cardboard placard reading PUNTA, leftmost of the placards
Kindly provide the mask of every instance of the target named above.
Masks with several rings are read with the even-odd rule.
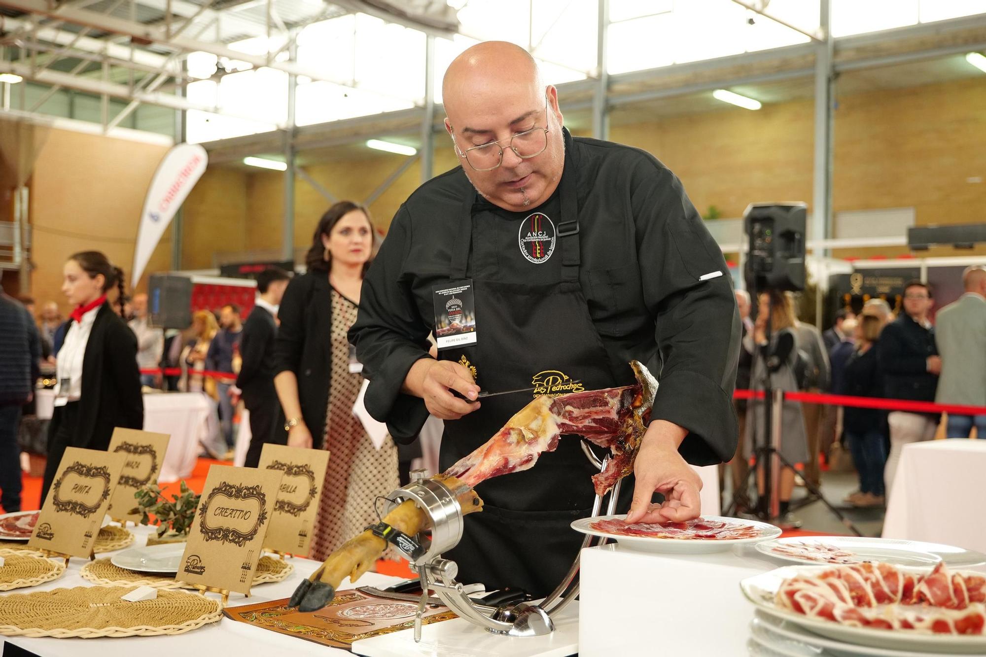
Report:
[[[28,546],[91,555],[124,461],[122,454],[66,448]]]

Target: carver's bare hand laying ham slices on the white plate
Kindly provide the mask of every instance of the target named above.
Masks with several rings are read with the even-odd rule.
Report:
[[[667,420],[651,422],[634,463],[637,484],[626,522],[684,522],[699,516],[702,479],[677,451],[687,434],[686,429]],[[651,504],[655,490],[664,493],[664,504]]]

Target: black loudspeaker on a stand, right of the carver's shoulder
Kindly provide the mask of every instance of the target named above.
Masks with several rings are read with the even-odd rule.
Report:
[[[743,213],[749,238],[744,275],[750,290],[805,289],[805,203],[751,203]]]

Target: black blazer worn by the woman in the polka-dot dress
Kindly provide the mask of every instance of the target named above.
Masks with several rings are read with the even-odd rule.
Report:
[[[302,417],[318,447],[325,433],[332,383],[332,294],[328,274],[311,271],[292,278],[277,317],[281,327],[274,340],[274,375],[294,372],[298,377]]]

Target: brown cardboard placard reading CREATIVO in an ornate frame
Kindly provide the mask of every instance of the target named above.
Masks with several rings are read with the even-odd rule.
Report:
[[[249,593],[284,473],[212,466],[176,579]]]

